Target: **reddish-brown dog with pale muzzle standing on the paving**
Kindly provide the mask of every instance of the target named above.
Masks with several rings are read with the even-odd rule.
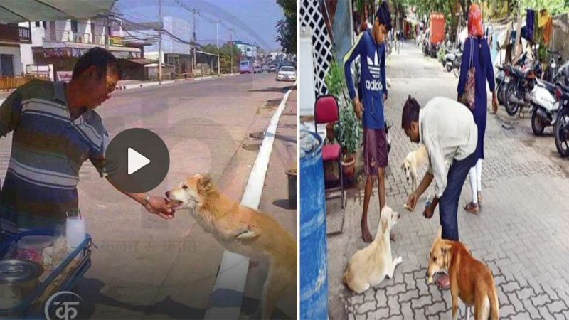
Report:
[[[437,272],[447,271],[450,277],[450,295],[452,297],[452,319],[457,319],[458,300],[469,308],[474,305],[474,319],[486,320],[489,316],[498,320],[498,295],[490,269],[474,259],[462,242],[444,240],[439,228],[437,238],[430,252],[427,269],[428,283]]]

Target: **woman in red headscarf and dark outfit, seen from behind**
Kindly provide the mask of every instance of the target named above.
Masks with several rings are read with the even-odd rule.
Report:
[[[482,201],[482,159],[484,159],[484,132],[486,132],[486,80],[492,92],[492,113],[498,110],[496,91],[494,82],[494,67],[490,57],[488,41],[484,36],[482,28],[482,14],[477,4],[472,4],[468,13],[468,38],[464,41],[462,63],[460,65],[460,77],[458,81],[458,100],[464,93],[467,83],[467,73],[470,67],[475,68],[474,72],[474,122],[478,127],[478,145],[476,153],[478,161],[470,169],[470,189],[472,191],[472,201],[464,206],[464,210],[469,213],[478,213],[478,206]],[[472,57],[471,57],[472,55]],[[472,59],[472,60],[471,60]]]

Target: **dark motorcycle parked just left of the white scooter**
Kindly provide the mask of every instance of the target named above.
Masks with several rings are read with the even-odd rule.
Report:
[[[526,60],[527,53],[522,58]],[[541,63],[537,59],[533,61],[531,68],[519,69],[511,65],[504,68],[504,82],[507,83],[504,107],[511,117],[521,108],[529,106],[530,92],[536,83],[536,77],[541,75]]]

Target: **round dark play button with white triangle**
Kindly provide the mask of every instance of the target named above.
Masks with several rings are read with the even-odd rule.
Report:
[[[164,181],[170,166],[166,144],[147,129],[117,134],[105,151],[105,172],[122,191],[145,193]]]

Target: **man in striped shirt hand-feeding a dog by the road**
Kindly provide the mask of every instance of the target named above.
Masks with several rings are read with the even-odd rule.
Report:
[[[64,223],[65,213],[78,208],[79,169],[87,159],[107,176],[109,137],[95,108],[110,98],[118,80],[115,56],[92,48],[79,58],[68,84],[32,80],[6,98],[0,134],[13,137],[0,192],[3,233],[53,230]],[[150,213],[174,217],[165,198],[121,192]]]

